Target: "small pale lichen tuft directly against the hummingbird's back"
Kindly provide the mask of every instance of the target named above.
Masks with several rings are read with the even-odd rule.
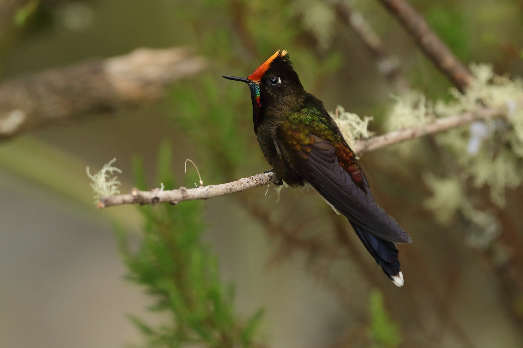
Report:
[[[329,115],[336,121],[339,130],[347,141],[347,144],[354,148],[356,140],[366,139],[371,137],[374,133],[369,131],[369,121],[372,117],[364,116],[361,119],[358,115],[346,112],[343,106],[336,106],[336,111],[329,112]]]

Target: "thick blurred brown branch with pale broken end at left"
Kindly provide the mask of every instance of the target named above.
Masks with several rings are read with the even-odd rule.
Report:
[[[156,101],[170,83],[206,65],[185,48],[138,49],[5,81],[0,85],[0,140],[31,128]]]

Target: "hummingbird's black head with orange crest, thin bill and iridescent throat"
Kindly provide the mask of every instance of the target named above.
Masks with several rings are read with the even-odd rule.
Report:
[[[277,51],[247,77],[223,76],[247,83],[253,101],[253,122],[256,133],[264,107],[278,107],[300,100],[305,92],[292,66],[287,51]]]

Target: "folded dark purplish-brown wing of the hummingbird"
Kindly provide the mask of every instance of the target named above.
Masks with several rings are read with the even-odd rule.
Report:
[[[328,202],[349,221],[368,233],[392,243],[411,243],[400,225],[379,207],[370,194],[356,185],[339,165],[335,148],[326,140],[312,134],[303,135],[303,128],[295,134],[301,139],[314,139],[300,145],[289,141],[289,129],[276,131],[276,143],[289,166],[309,182]],[[366,180],[365,180],[366,182]],[[368,184],[366,185],[368,186]]]

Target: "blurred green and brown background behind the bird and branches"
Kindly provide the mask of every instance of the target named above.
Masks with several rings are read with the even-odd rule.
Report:
[[[520,1],[410,3],[465,65],[490,63],[495,74],[511,77],[523,72]],[[178,186],[196,181],[194,170],[184,173],[187,158],[198,165],[204,185],[268,170],[253,132],[248,89],[221,75],[247,76],[285,49],[305,89],[327,110],[342,105],[372,116],[369,128],[377,134],[387,130],[395,95],[416,90],[427,100],[452,98],[451,82],[380,2],[346,5],[383,41],[397,68],[392,77],[328,1],[0,3],[5,81],[138,47],[184,46],[208,64],[176,81],[159,102],[53,123],[0,143],[0,346],[145,344],[127,315],[153,323],[165,318],[147,310],[149,285],[124,278],[133,271],[119,254],[113,223],[140,241],[147,216],[135,207],[96,210],[85,167],[93,173],[117,158],[122,193],[135,186],[137,156],[148,188],[159,186],[162,143],[172,147],[170,170]],[[456,169],[452,156],[438,139],[426,137],[361,157],[377,202],[413,239],[400,246],[402,288],[382,274],[347,221],[316,193],[283,189],[276,202],[274,186],[266,195],[266,187],[258,187],[199,206],[201,238],[217,255],[219,279],[235,284],[237,317],[264,309],[258,346],[523,346],[521,188],[507,188],[503,205],[491,199],[488,185],[465,179],[469,201],[496,226],[486,243],[470,243],[482,226],[459,210],[437,219],[430,209],[435,205],[425,203],[434,191],[428,173],[466,171]]]

